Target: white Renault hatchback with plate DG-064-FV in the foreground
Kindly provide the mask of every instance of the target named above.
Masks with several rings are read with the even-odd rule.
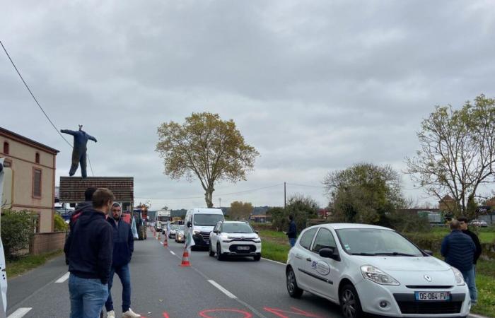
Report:
[[[389,228],[315,225],[289,251],[287,291],[293,298],[304,290],[327,298],[346,318],[363,312],[467,317],[471,300],[462,273],[427,252]]]

